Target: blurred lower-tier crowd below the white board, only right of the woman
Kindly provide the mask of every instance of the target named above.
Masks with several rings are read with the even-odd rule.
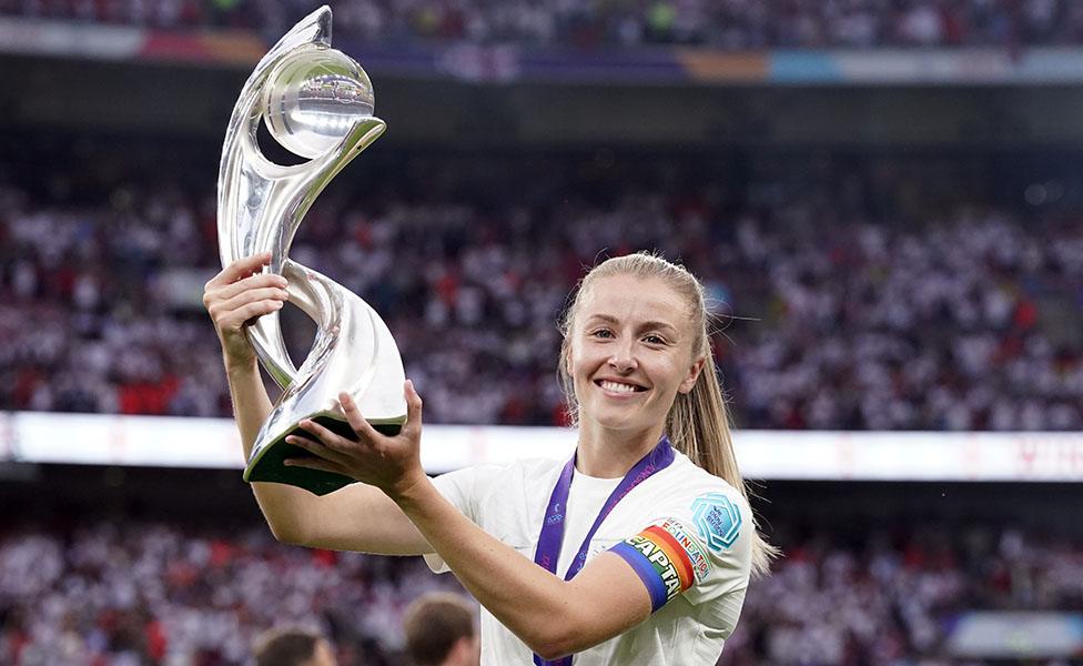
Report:
[[[951,657],[959,614],[1083,609],[1083,551],[1069,539],[973,526],[844,546],[828,534],[752,583],[720,664],[979,664]]]

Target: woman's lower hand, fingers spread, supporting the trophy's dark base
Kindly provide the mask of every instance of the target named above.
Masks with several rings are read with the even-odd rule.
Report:
[[[357,441],[336,435],[312,420],[301,428],[316,438],[289,435],[286,442],[304,448],[312,456],[286,458],[286,465],[334,472],[382,490],[392,500],[408,491],[425,476],[421,464],[422,398],[409,380],[403,386],[406,396],[406,423],[397,435],[376,431],[357,408],[348,393],[338,394],[346,421]]]

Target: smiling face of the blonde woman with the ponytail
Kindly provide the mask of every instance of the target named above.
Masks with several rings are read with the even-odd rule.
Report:
[[[567,372],[580,425],[639,432],[664,423],[704,366],[687,301],[659,278],[618,274],[580,294]]]

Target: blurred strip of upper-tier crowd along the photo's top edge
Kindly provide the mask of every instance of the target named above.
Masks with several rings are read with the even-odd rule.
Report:
[[[7,14],[163,29],[227,26],[276,38],[315,0],[6,0]],[[575,48],[726,50],[1077,44],[1070,0],[332,0],[335,33]]]

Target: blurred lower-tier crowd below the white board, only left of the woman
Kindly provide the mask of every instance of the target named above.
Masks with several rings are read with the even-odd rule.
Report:
[[[266,528],[23,529],[0,537],[0,663],[240,665],[263,630],[302,626],[344,664],[401,664],[409,602],[456,585],[419,557],[295,548]]]

